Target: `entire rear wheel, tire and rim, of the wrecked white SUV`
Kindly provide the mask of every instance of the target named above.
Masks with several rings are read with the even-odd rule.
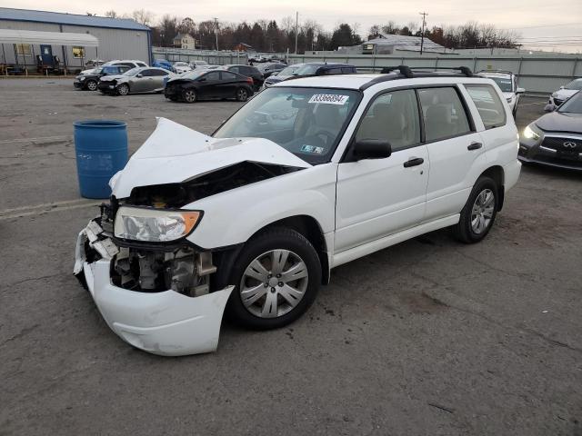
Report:
[[[478,243],[487,236],[497,215],[497,183],[487,176],[479,177],[461,211],[453,233],[462,243]]]

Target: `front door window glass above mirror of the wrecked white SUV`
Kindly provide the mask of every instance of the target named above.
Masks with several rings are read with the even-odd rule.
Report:
[[[412,89],[376,97],[369,105],[356,133],[356,141],[380,139],[396,152],[420,144],[416,93]]]

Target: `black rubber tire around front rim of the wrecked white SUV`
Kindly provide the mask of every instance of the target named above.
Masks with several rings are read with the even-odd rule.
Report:
[[[263,253],[268,253],[272,250],[287,250],[291,252],[291,254],[298,256],[298,258],[305,263],[308,274],[306,279],[306,289],[302,298],[299,302],[296,302],[296,305],[290,309],[289,312],[282,313],[280,316],[273,318],[262,318],[246,308],[240,293],[240,286],[246,268],[250,263],[253,263],[253,261]],[[299,316],[305,313],[309,306],[314,302],[321,284],[321,263],[319,262],[319,257],[317,256],[315,248],[301,233],[297,233],[295,230],[286,227],[274,227],[263,233],[257,234],[245,243],[243,249],[238,253],[236,261],[231,264],[232,268],[230,269],[230,272],[223,272],[223,274],[227,275],[227,278],[218,278],[218,282],[227,282],[236,285],[230,295],[228,304],[226,305],[226,316],[231,321],[251,329],[276,329],[283,327],[290,322],[294,322]],[[265,287],[268,290],[268,287]],[[274,289],[278,290],[279,288],[274,287],[266,291],[264,299],[261,297],[263,302],[266,302],[268,292],[276,292],[273,291]],[[278,301],[277,304],[286,304],[286,300],[284,300],[284,297],[278,292],[276,293],[275,298]],[[261,304],[260,299],[257,304]]]

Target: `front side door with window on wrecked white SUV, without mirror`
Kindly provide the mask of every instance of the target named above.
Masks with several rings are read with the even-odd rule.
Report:
[[[413,89],[380,94],[368,105],[337,168],[336,253],[422,221],[429,163],[420,131]],[[392,154],[382,159],[350,158],[351,147],[365,139],[389,142]]]

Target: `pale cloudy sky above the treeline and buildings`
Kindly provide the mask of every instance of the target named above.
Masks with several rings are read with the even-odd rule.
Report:
[[[371,25],[390,20],[420,25],[419,13],[424,11],[428,27],[477,21],[515,31],[527,48],[582,53],[582,0],[487,0],[471,4],[467,0],[0,0],[0,6],[97,15],[111,9],[124,14],[144,8],[157,18],[170,14],[189,16],[195,22],[213,17],[227,22],[260,18],[280,22],[286,16],[295,19],[298,12],[299,22],[316,20],[328,31],[339,23],[357,25],[363,37]]]

